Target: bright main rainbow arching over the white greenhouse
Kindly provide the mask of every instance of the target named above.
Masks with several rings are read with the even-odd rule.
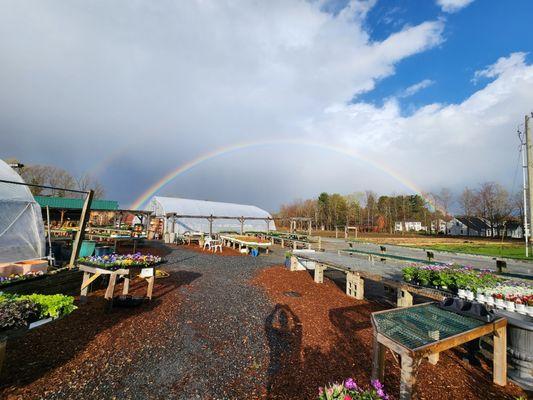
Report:
[[[400,175],[398,172],[384,164],[383,162],[376,162],[368,157],[366,157],[363,154],[357,153],[353,150],[347,150],[345,148],[342,148],[340,146],[333,146],[329,144],[319,143],[319,142],[312,142],[312,141],[303,141],[303,140],[291,140],[291,139],[279,139],[279,140],[265,140],[265,141],[254,141],[254,142],[242,142],[237,143],[229,146],[220,147],[218,149],[212,150],[208,153],[202,154],[199,157],[192,159],[185,164],[182,164],[178,166],[176,169],[168,172],[165,176],[163,176],[161,179],[159,179],[157,182],[155,182],[152,186],[150,186],[148,189],[146,189],[130,206],[130,209],[137,210],[141,209],[141,207],[148,202],[148,200],[154,196],[159,190],[161,190],[163,187],[168,185],[170,182],[172,182],[178,175],[183,174],[190,169],[196,167],[197,165],[206,162],[208,160],[212,160],[216,157],[226,155],[229,153],[233,153],[236,151],[241,151],[244,149],[250,149],[254,147],[261,147],[261,146],[268,146],[268,145],[287,145],[287,144],[295,144],[295,145],[304,145],[304,146],[310,146],[310,147],[317,147],[320,149],[326,149],[330,150],[336,153],[340,153],[352,158],[356,158],[359,160],[362,160],[370,165],[372,165],[374,168],[384,172],[385,174],[391,176],[395,180],[402,183],[405,187],[413,190],[415,193],[419,194],[424,198],[424,200],[429,204],[430,207],[433,207],[433,201],[427,197],[427,195],[424,194],[424,192],[410,179]]]

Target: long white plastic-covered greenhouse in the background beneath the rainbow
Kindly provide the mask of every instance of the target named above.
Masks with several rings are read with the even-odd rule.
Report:
[[[167,214],[177,215],[213,215],[214,217],[258,217],[272,218],[265,210],[256,206],[234,203],[219,203],[215,201],[181,199],[176,197],[154,196],[148,203],[146,210],[153,211],[157,217],[164,217]],[[276,230],[274,221],[270,221],[269,229]],[[167,232],[209,232],[209,221],[206,218],[177,218],[172,230],[172,219],[167,221]],[[237,219],[215,219],[213,221],[213,232],[235,231],[239,232],[241,223]],[[265,220],[244,221],[245,231],[266,231]]]

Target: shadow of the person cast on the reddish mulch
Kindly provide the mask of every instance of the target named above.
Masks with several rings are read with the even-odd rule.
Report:
[[[265,334],[270,351],[267,398],[276,398],[277,394],[290,397],[287,390],[299,386],[294,381],[299,379],[301,369],[302,324],[289,306],[276,304],[265,320]],[[290,372],[278,374],[282,370]]]

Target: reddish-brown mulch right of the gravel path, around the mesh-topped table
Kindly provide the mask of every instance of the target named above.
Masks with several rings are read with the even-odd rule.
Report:
[[[333,282],[316,284],[306,271],[290,272],[283,267],[260,271],[253,283],[264,288],[276,303],[269,340],[272,375],[269,398],[312,399],[318,386],[354,377],[368,385],[372,369],[370,313],[384,305],[346,296]],[[298,292],[301,297],[285,293]],[[525,393],[509,383],[492,383],[491,366],[463,361],[462,350],[441,354],[436,366],[422,363],[418,374],[419,399],[516,399]],[[275,363],[272,363],[272,358]],[[398,362],[387,351],[385,386],[397,398],[400,385]]]

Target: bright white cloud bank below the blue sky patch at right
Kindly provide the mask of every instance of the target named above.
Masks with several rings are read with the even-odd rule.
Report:
[[[477,185],[511,188],[517,157],[516,126],[533,104],[533,65],[511,54],[488,66],[492,82],[457,104],[428,104],[402,116],[390,99],[383,107],[355,103],[322,115],[313,126],[336,132],[343,146],[390,165],[419,186]]]

